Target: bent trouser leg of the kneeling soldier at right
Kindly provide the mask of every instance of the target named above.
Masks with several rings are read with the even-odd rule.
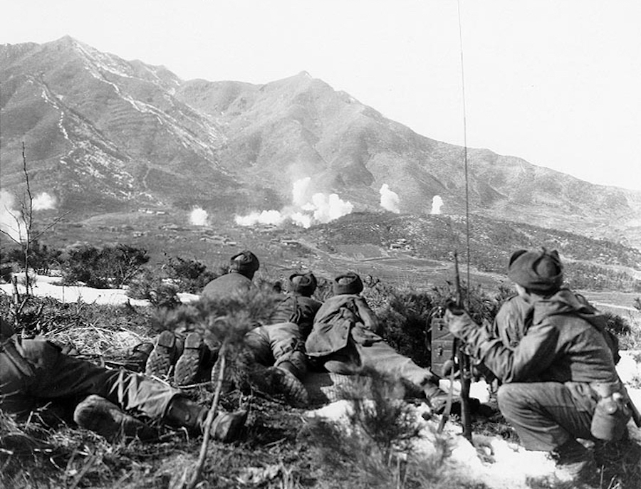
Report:
[[[558,382],[503,384],[499,409],[528,450],[552,451],[573,438],[592,438],[593,410],[578,406]]]

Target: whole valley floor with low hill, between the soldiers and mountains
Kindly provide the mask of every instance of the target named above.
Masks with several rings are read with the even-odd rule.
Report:
[[[271,278],[286,278],[301,269],[324,278],[355,270],[416,288],[451,281],[454,251],[461,269],[467,269],[467,230],[461,216],[353,212],[306,229],[291,224],[234,226],[220,220],[195,226],[185,221],[185,214],[126,212],[101,214],[80,224],[63,221],[41,241],[56,249],[78,243],[122,243],[149,251],[152,266],[179,256],[196,259],[213,270],[228,263],[232,254],[249,248],[261,259],[260,274]],[[637,248],[481,216],[471,216],[470,224],[474,285],[495,290],[506,282],[506,264],[513,251],[546,246],[561,253],[566,281],[572,288],[637,293],[635,297],[641,293],[641,251]],[[6,256],[6,246],[11,246],[6,241],[0,240],[0,256]],[[631,307],[630,301],[625,305]]]

